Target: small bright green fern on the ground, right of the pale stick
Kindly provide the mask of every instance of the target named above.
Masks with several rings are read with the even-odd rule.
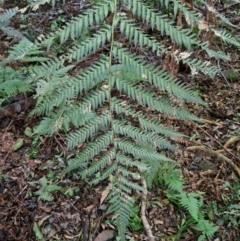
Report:
[[[198,241],[213,237],[218,227],[205,219],[202,195],[200,193],[185,193],[183,191],[184,180],[180,169],[176,165],[162,163],[154,178],[154,183],[166,185],[166,196],[168,199],[177,206],[187,210],[190,218],[185,223],[187,226],[200,231],[201,235],[198,237]]]

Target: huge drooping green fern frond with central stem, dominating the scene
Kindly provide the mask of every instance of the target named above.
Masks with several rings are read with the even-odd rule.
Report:
[[[50,1],[35,1],[35,6],[44,2]],[[140,178],[146,178],[150,186],[161,162],[172,161],[163,152],[175,150],[168,137],[183,136],[164,127],[164,119],[171,116],[198,121],[183,108],[183,103],[206,105],[147,56],[172,56],[211,77],[218,72],[208,62],[172,52],[161,43],[166,37],[185,52],[199,49],[210,57],[229,59],[223,52],[211,50],[207,42],[199,41],[191,27],[174,25],[178,11],[188,16],[190,26],[198,24],[201,16],[187,5],[177,0],[159,1],[160,9],[174,6],[173,14],[167,16],[148,3],[99,0],[41,41],[21,40],[5,60],[37,63],[29,67],[23,81],[35,90],[37,98],[31,115],[43,116],[35,134],[65,135],[68,150],[75,153],[67,160],[65,174],[75,173],[89,185],[109,180],[108,212],[113,214],[120,240],[125,239],[133,192],[145,191]],[[146,33],[141,27],[145,25],[157,34]],[[67,46],[60,56],[56,53],[59,45]],[[95,60],[84,66],[94,53]],[[182,205],[197,220],[196,197],[180,194]],[[194,206],[189,205],[191,200]]]

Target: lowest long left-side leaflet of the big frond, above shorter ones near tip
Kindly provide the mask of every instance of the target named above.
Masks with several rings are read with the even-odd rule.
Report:
[[[80,153],[76,155],[75,158],[69,161],[69,165],[66,168],[65,173],[71,172],[72,170],[76,169],[86,168],[88,162],[111,143],[111,131],[97,137],[95,140],[92,140]]]

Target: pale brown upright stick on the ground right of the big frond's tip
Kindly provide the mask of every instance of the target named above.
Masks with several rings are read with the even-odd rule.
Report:
[[[154,236],[152,234],[151,227],[150,227],[150,225],[148,223],[148,220],[146,218],[147,184],[146,184],[146,181],[145,181],[145,179],[143,177],[142,177],[142,185],[143,185],[143,188],[145,189],[145,191],[142,194],[142,205],[141,205],[142,223],[143,223],[143,226],[144,226],[145,231],[147,233],[148,240],[149,241],[155,241],[155,238],[154,238]]]

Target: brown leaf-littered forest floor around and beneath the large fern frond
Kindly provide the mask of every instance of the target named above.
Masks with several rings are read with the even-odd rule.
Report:
[[[16,7],[9,2],[5,1],[2,8]],[[25,3],[19,1],[19,4],[18,7],[22,7]],[[30,17],[20,19],[17,15],[12,26],[23,34],[35,36],[54,30],[79,12],[79,1],[66,1],[63,9],[40,8],[38,17],[31,21]],[[7,57],[14,41],[0,31],[1,59]],[[239,71],[240,52],[233,49],[228,52],[232,61],[221,62],[222,68]],[[18,68],[15,63],[10,66]],[[178,77],[198,91],[209,109],[186,104],[203,123],[167,120],[168,126],[190,139],[175,140],[180,152],[166,154],[181,165],[186,180],[184,190],[203,193],[203,210],[219,227],[212,240],[240,240],[240,78],[226,81],[221,73],[214,79],[204,75],[190,78],[185,71],[178,73]],[[15,96],[11,109],[27,99],[27,94]],[[27,136],[26,128],[34,127],[40,120],[28,118],[32,106],[34,101],[26,102],[10,116],[0,112],[0,240],[87,241],[94,240],[103,230],[114,229],[107,206],[101,201],[106,183],[90,188],[74,176],[61,178],[66,167],[64,154],[58,155],[64,153],[62,137],[33,139]],[[16,141],[21,140],[21,148],[13,151]],[[52,193],[51,201],[38,199],[36,192],[41,188],[43,177],[61,187],[61,191]],[[146,240],[138,217],[136,214],[135,223],[128,230],[129,240]],[[176,240],[194,241],[199,236],[191,225],[184,226],[187,221],[184,210],[169,202],[163,186],[153,186],[149,193],[146,217],[157,240],[173,240],[169,236],[179,234]]]

